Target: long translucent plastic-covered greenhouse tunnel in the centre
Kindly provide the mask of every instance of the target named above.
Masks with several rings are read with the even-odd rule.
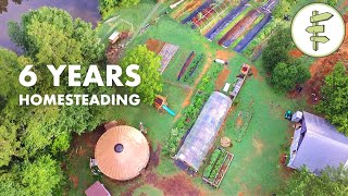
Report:
[[[206,102],[175,159],[198,171],[214,144],[231,106],[232,100],[227,96],[214,91]]]

